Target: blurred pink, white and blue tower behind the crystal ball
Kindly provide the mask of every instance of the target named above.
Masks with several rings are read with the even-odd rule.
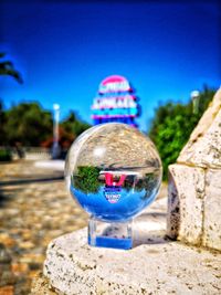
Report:
[[[94,125],[119,122],[137,127],[135,118],[140,115],[140,105],[128,81],[118,75],[102,81],[98,95],[92,105]]]

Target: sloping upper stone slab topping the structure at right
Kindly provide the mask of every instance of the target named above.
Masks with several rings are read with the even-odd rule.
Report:
[[[221,168],[221,88],[185,146],[178,162]]]

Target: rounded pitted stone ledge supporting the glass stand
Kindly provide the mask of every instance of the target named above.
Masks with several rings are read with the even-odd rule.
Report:
[[[50,243],[44,275],[57,294],[221,293],[220,254],[161,238],[122,251],[88,246],[86,229],[66,234]]]

